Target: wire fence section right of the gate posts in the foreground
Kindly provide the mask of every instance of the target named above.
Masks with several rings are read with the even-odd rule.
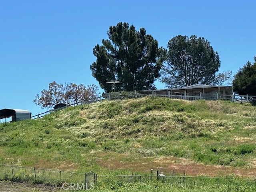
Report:
[[[222,188],[222,186],[251,186],[256,188],[256,178],[241,177],[207,177],[207,176],[186,176],[184,174],[175,175],[174,170],[170,175],[163,175],[162,172],[150,170],[148,175],[97,175],[97,185],[105,183],[122,185],[130,182],[153,182],[162,183],[170,187],[185,188]]]

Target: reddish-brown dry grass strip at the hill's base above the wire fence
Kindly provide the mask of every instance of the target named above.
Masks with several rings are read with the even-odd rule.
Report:
[[[126,170],[130,173],[150,173],[150,169],[158,170],[163,174],[175,175],[184,174],[189,176],[241,176],[241,177],[254,177],[256,174],[256,167],[253,168],[239,168],[232,166],[214,166],[196,163],[185,158],[177,157],[163,157],[158,158],[143,158],[136,157],[135,161],[127,161],[130,158],[129,154],[115,154],[115,153],[101,153],[102,157],[97,161],[101,167],[110,169],[110,174],[115,173],[116,170]],[[112,156],[107,158],[106,156]]]

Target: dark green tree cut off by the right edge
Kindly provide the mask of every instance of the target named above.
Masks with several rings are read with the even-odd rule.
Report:
[[[254,63],[247,62],[234,76],[233,91],[240,95],[256,96],[256,56]]]

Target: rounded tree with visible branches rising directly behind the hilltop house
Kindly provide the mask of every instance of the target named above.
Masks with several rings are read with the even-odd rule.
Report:
[[[218,52],[214,52],[208,40],[195,35],[178,35],[168,42],[167,62],[161,72],[161,81],[168,88],[222,84],[232,72],[216,74],[219,68]]]

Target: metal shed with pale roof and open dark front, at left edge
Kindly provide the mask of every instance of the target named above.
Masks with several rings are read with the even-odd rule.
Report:
[[[31,119],[31,113],[22,109],[1,109],[0,120],[10,118],[10,122],[16,122],[25,119]]]

